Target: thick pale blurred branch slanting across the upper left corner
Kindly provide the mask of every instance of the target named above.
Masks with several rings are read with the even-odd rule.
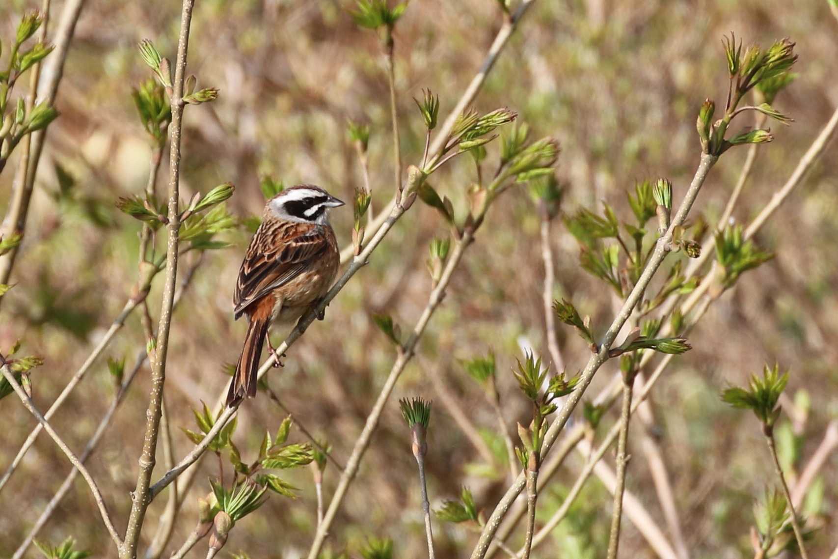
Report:
[[[70,49],[70,40],[73,39],[75,23],[79,20],[79,14],[84,3],[85,0],[67,0],[64,4],[64,11],[61,13],[53,40],[55,49],[44,60],[44,68],[39,72],[44,76],[44,81],[39,84],[40,88],[42,88],[42,91],[39,91],[39,97],[49,106],[53,106],[55,103],[58,86],[61,82],[61,77],[64,75],[64,63],[67,59],[67,52]],[[44,21],[45,32],[46,22]],[[31,138],[32,143],[28,151],[29,164],[26,170],[26,180],[19,183],[18,189],[14,191],[12,201],[9,204],[8,214],[3,220],[3,236],[10,236],[13,233],[18,233],[23,236],[25,233],[29,200],[32,197],[41,153],[44,151],[46,132],[47,128],[44,128],[44,130],[39,130],[30,135],[33,137]],[[19,248],[20,245],[8,251],[3,256],[0,256],[0,283],[8,283],[8,278],[12,275],[12,268]]]

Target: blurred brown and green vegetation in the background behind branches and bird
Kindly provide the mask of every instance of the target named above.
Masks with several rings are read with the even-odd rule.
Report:
[[[375,34],[349,17],[353,5],[344,0],[197,3],[189,70],[199,75],[199,87],[216,86],[220,96],[186,113],[184,199],[229,180],[236,191],[228,207],[246,220],[261,214],[260,182],[268,176],[284,184],[319,184],[349,200],[362,175],[346,135],[347,119],[370,125],[375,212],[391,198],[389,101],[380,45]],[[33,8],[39,5],[3,3],[0,36],[12,36],[19,16]],[[137,56],[137,42],[153,39],[161,52],[173,57],[179,9],[179,3],[160,1],[88,0],[76,28],[56,101],[61,116],[50,127],[27,236],[13,272],[17,287],[5,295],[0,314],[0,347],[22,339],[28,353],[44,357],[44,366],[33,374],[34,400],[42,410],[108,328],[137,280],[140,225],[114,207],[117,197],[141,193],[147,180],[150,148],[131,98],[132,86],[148,75]],[[405,163],[418,162],[424,142],[422,119],[411,97],[420,97],[428,87],[440,95],[441,112],[447,114],[501,23],[494,0],[411,1],[395,35]],[[624,191],[636,181],[665,176],[675,184],[676,200],[685,191],[700,152],[698,107],[706,97],[722,102],[727,91],[721,39],[731,30],[746,45],[788,36],[799,54],[797,79],[773,104],[795,122],[773,125],[775,140],[758,148],[757,165],[734,212],[737,222],[747,223],[784,183],[838,103],[838,21],[825,2],[537,0],[475,106],[509,106],[530,124],[534,137],[552,135],[561,141],[563,212],[605,199],[628,219]],[[701,212],[712,223],[722,213],[745,152],[734,149],[722,158],[701,191],[693,218]],[[653,434],[665,453],[694,557],[748,555],[752,505],[773,479],[756,422],[722,403],[723,388],[742,383],[763,362],[777,361],[791,370],[789,394],[806,411],[794,422],[784,416],[778,427],[784,432],[778,435],[781,458],[793,479],[820,442],[825,425],[838,414],[835,154],[833,144],[758,235],[758,244],[775,251],[776,258],[749,272],[711,307],[691,333],[694,349],[676,358],[654,389]],[[13,158],[0,176],[3,208],[15,163]],[[167,164],[163,158],[163,177]],[[460,158],[432,183],[462,214],[473,180],[473,163]],[[332,221],[345,246],[351,239],[351,211],[334,211]],[[394,359],[392,345],[371,317],[389,313],[403,324],[416,321],[431,288],[428,242],[446,233],[431,208],[411,211],[375,252],[370,266],[330,305],[326,321],[316,323],[292,348],[284,369],[268,375],[283,403],[309,430],[328,438],[342,463]],[[167,375],[174,426],[194,428],[190,407],[215,401],[228,380],[224,365],[235,361],[241,349],[245,324],[231,319],[230,300],[249,236],[241,226],[226,236],[230,248],[206,256],[175,314]],[[396,399],[420,395],[437,400],[431,370],[442,375],[446,390],[482,427],[495,454],[494,464],[485,464],[445,408],[435,405],[426,458],[432,505],[457,496],[467,485],[478,509],[489,512],[508,485],[494,412],[461,360],[494,349],[508,426],[529,421],[530,406],[517,391],[511,367],[522,348],[547,352],[539,215],[524,190],[490,211],[477,241],[422,339],[422,359],[409,365],[396,387],[396,398],[339,511],[330,536],[335,551],[346,548],[356,554],[368,536],[386,536],[395,542],[395,556],[426,553],[416,464]],[[579,267],[577,242],[559,222],[553,243],[554,295],[572,298],[592,324],[606,323],[614,302],[604,294],[603,284]],[[150,297],[153,309],[158,308],[161,285],[158,279]],[[571,329],[560,328],[558,335],[567,370],[575,372],[587,360],[588,349]],[[127,357],[131,363],[144,344],[139,313],[134,313],[106,355]],[[101,361],[54,417],[72,448],[81,448],[91,436],[110,401],[113,387]],[[616,368],[616,363],[603,368],[591,396]],[[88,463],[119,519],[127,517],[130,506],[127,494],[133,489],[142,444],[148,380],[145,370]],[[5,449],[0,465],[5,468],[34,420],[13,398],[0,402],[0,413],[0,447]],[[235,435],[239,448],[256,452],[263,428],[275,430],[282,417],[285,413],[265,396],[246,402]],[[609,411],[598,432],[605,432],[616,418],[616,411]],[[294,436],[301,437],[299,432]],[[173,437],[176,456],[192,447],[179,429]],[[663,525],[636,439],[629,437],[635,458],[628,487]],[[613,453],[606,460],[613,463]],[[838,544],[830,518],[838,502],[836,463],[835,458],[827,462],[815,497],[804,509],[804,514],[823,515],[826,521],[810,543],[811,556],[825,556]],[[568,459],[539,500],[540,519],[561,503],[581,465],[576,454]],[[195,496],[205,494],[206,479],[218,474],[215,460],[204,460],[201,468]],[[0,556],[12,553],[69,469],[54,443],[40,437],[0,497]],[[327,500],[337,477],[329,466],[323,479]],[[300,498],[272,499],[242,520],[225,551],[241,549],[252,557],[296,557],[308,551],[316,523],[313,482],[305,468],[289,479],[301,489]],[[165,499],[158,500],[149,510],[147,538],[163,511]],[[569,518],[535,554],[603,556],[610,501],[593,479]],[[194,498],[187,499],[172,546],[179,546],[193,528],[196,506]],[[57,542],[73,535],[81,548],[109,556],[111,542],[93,507],[88,489],[77,480],[39,537]],[[437,523],[440,556],[465,556],[473,538],[462,526]],[[623,556],[653,556],[630,522],[625,523],[622,545]]]

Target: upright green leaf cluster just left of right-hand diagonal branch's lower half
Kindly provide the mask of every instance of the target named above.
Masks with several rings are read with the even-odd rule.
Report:
[[[530,352],[525,354],[523,362],[517,362],[517,368],[512,372],[520,390],[532,402],[533,418],[529,428],[518,424],[518,437],[524,448],[516,447],[515,453],[523,468],[535,469],[547,431],[546,418],[556,411],[556,399],[570,394],[580,377],[568,379],[564,372],[549,376],[550,370],[542,367],[541,358],[535,359]]]

